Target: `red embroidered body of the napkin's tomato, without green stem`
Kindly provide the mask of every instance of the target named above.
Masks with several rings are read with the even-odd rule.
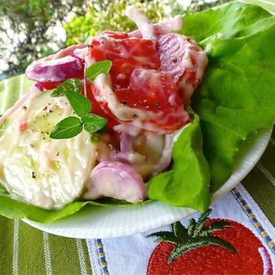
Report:
[[[196,248],[179,256],[178,259],[168,264],[170,252],[175,248],[172,243],[162,242],[157,245],[148,263],[147,275],[214,275],[214,274],[264,274],[264,263],[259,253],[259,248],[265,250],[261,241],[241,223],[226,219],[210,219],[206,226],[214,221],[227,221],[230,227],[213,232],[217,236],[236,248],[234,254],[217,245],[206,245]],[[267,253],[267,251],[265,250]],[[267,253],[267,261],[270,256]],[[272,275],[272,265],[267,267],[268,275]]]

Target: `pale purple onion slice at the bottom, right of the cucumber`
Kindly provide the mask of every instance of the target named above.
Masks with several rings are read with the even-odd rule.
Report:
[[[142,177],[122,162],[100,162],[92,171],[84,199],[112,197],[135,203],[146,199]]]

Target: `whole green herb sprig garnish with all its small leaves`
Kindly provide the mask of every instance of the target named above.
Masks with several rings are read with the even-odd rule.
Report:
[[[111,69],[111,61],[100,61],[91,65],[86,71],[86,77],[94,80],[98,74],[107,74]],[[50,133],[53,139],[67,139],[75,137],[83,131],[94,133],[99,131],[107,124],[107,119],[91,112],[91,102],[86,96],[80,94],[83,90],[83,84],[77,78],[70,78],[59,85],[51,96],[66,96],[67,100],[74,109],[76,116],[70,116],[58,122]]]

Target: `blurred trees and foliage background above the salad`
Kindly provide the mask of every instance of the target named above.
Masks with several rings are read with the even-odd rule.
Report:
[[[126,5],[142,8],[152,22],[230,0],[0,0],[0,79],[21,74],[35,59],[100,30],[134,30]]]

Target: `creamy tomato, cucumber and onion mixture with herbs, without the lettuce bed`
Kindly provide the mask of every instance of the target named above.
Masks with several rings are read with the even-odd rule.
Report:
[[[135,6],[126,14],[139,30],[100,32],[27,68],[36,85],[1,118],[0,181],[12,197],[45,209],[78,198],[136,203],[170,165],[208,58],[171,33],[181,17],[152,25]]]

